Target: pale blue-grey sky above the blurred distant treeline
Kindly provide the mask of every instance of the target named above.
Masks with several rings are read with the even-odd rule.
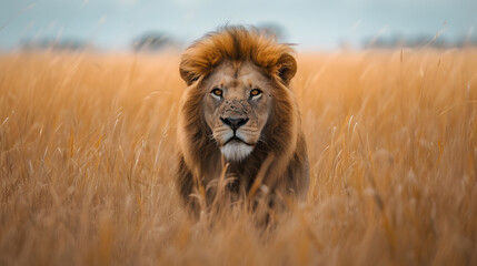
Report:
[[[275,22],[298,49],[361,44],[376,35],[475,37],[477,0],[0,0],[0,50],[61,37],[125,49],[146,31],[185,44],[225,23]]]

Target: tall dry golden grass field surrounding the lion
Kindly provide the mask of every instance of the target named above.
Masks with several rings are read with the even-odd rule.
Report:
[[[179,54],[0,55],[0,265],[477,265],[477,50],[298,54],[308,202],[190,221]]]

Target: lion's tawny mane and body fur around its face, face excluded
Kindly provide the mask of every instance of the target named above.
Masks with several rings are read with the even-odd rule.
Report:
[[[198,203],[190,194],[198,185],[207,187],[219,178],[223,157],[217,142],[211,140],[211,129],[205,121],[203,99],[208,95],[202,82],[222,63],[240,65],[251,62],[272,86],[272,105],[261,131],[261,140],[249,156],[229,162],[228,176],[236,177],[229,193],[248,194],[267,157],[269,167],[262,170],[261,181],[270,195],[289,195],[306,198],[309,166],[300,115],[289,89],[297,65],[289,45],[260,34],[255,29],[226,27],[209,33],[189,47],[182,55],[180,74],[188,84],[179,114],[179,164],[177,184],[185,202],[192,208]],[[237,66],[239,68],[239,66]],[[213,195],[207,195],[213,197]],[[207,198],[209,202],[211,198]]]

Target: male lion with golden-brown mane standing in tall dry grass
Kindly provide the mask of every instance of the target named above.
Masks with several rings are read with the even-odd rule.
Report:
[[[306,198],[309,163],[289,86],[297,72],[292,52],[240,25],[208,33],[183,52],[177,185],[192,211],[201,206],[191,194],[223,173],[233,177],[227,193],[238,198],[266,192],[270,206],[279,197]],[[210,204],[213,193],[202,194]]]

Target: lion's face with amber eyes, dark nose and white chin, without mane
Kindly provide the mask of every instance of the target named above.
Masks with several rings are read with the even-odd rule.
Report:
[[[271,110],[271,85],[250,62],[221,63],[201,84],[203,112],[228,161],[241,161],[260,141]]]

